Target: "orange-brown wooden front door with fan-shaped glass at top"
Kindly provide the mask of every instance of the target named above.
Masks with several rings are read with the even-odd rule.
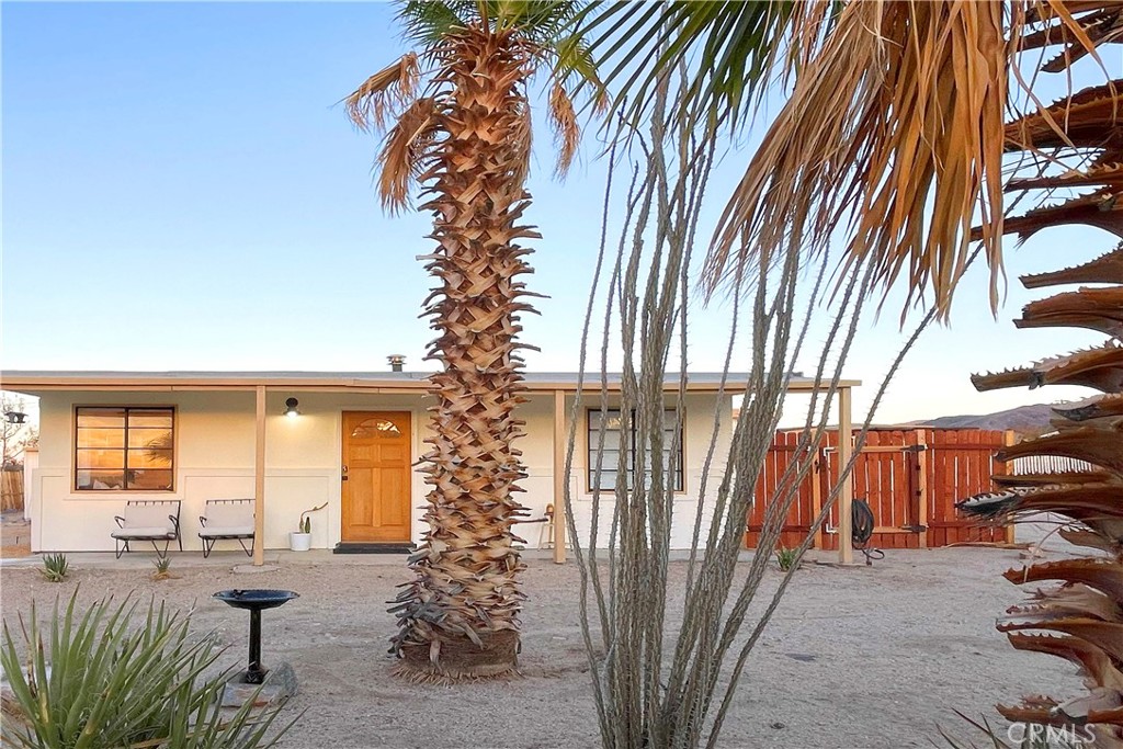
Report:
[[[409,412],[345,411],[343,445],[343,541],[409,541]]]

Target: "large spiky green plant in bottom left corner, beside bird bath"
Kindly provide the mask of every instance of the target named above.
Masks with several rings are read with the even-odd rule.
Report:
[[[0,665],[13,696],[3,703],[0,743],[255,749],[275,745],[292,725],[273,730],[281,705],[254,712],[253,700],[223,716],[227,674],[212,668],[221,650],[212,638],[189,636],[190,614],[154,602],[145,611],[131,596],[81,613],[76,599],[63,610],[56,600],[45,630],[33,603],[19,619],[19,643],[4,621]]]

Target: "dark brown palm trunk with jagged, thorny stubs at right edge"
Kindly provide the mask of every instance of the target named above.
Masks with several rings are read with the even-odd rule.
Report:
[[[1075,6],[1077,3],[1067,3]],[[1119,40],[1123,8],[1117,3],[1081,3],[1092,12],[1083,30],[1093,43]],[[1054,13],[1056,15],[1056,13]],[[1040,20],[1050,20],[1040,13]],[[1067,28],[1067,27],[1065,27]],[[1112,30],[1104,35],[1104,30]],[[1052,36],[1050,36],[1050,34]],[[1047,25],[1029,35],[1029,45],[1070,39],[1061,27]],[[1081,47],[1087,48],[1087,47]],[[1062,70],[1079,51],[1049,61],[1044,70]],[[1010,190],[1090,186],[1088,194],[1007,219],[1006,232],[1025,238],[1062,223],[1087,223],[1123,237],[1123,81],[1083,91],[1043,111],[1006,126],[1007,148],[1054,149],[1053,158],[1078,165],[1057,174],[1015,179]],[[976,232],[982,236],[983,232]],[[1005,476],[1002,490],[970,497],[960,508],[971,514],[1017,521],[1042,512],[1071,521],[1059,532],[1094,555],[1011,569],[1012,583],[1053,583],[999,620],[1011,645],[1021,650],[1066,658],[1080,669],[1088,693],[1062,700],[1026,697],[999,705],[1008,720],[1090,730],[1094,746],[1123,747],[1123,245],[1090,263],[1022,278],[1026,287],[1097,283],[1028,304],[1019,328],[1079,327],[1106,334],[1104,345],[1043,359],[1026,367],[976,375],[980,390],[1048,384],[1083,385],[1101,395],[1053,409],[1054,431],[998,453],[1002,460],[1024,456],[1065,456],[1094,466],[1080,473]]]

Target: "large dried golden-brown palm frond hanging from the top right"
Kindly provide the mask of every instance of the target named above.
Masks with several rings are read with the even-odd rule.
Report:
[[[906,274],[946,314],[976,210],[996,280],[1006,28],[1001,2],[848,4],[722,216],[710,290],[783,243],[821,253],[841,225],[847,266],[870,264],[885,287]]]

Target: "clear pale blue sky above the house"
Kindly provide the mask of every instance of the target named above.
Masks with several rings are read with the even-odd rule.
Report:
[[[2,367],[384,369],[422,363],[423,216],[387,217],[376,140],[336,102],[404,46],[380,3],[3,3]],[[1093,76],[1094,80],[1095,76]],[[539,118],[541,120],[541,118]],[[541,122],[540,122],[541,124]],[[734,144],[710,190],[721,208],[749,155]],[[539,128],[528,219],[544,239],[524,320],[537,371],[573,369],[604,183],[600,146],[559,184]],[[1046,232],[1013,275],[1088,259],[1097,231]],[[976,394],[971,372],[1020,365],[1090,334],[1015,332],[1040,293],[1013,284],[998,320],[976,270],[952,327],[932,330],[879,420],[985,413],[1080,391]],[[723,317],[694,325],[694,369],[720,368]],[[867,327],[847,374],[874,383],[901,341]],[[814,342],[814,341],[812,341]],[[810,360],[803,366],[810,367]],[[859,409],[873,394],[864,389]]]

